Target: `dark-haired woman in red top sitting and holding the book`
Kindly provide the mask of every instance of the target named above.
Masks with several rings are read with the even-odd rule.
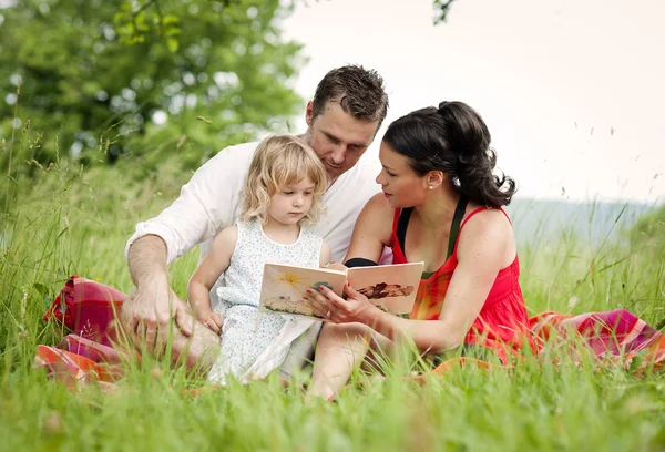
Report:
[[[334,396],[369,342],[386,351],[406,339],[434,357],[462,347],[503,362],[531,342],[513,229],[501,209],[515,183],[493,174],[480,115],[461,102],[415,111],[390,124],[379,158],[383,193],[360,214],[346,265],[376,265],[391,247],[395,264],[423,261],[424,273],[408,319],[351,287],[346,300],[326,288],[308,296],[330,319],[319,337],[315,396]]]

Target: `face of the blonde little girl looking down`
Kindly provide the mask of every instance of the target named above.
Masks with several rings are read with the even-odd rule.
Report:
[[[311,208],[314,182],[309,177],[278,189],[268,205],[267,213],[283,225],[295,225]]]

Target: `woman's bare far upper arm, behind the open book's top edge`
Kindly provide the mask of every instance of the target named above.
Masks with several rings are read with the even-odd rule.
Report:
[[[351,245],[345,261],[360,257],[378,263],[383,253],[383,247],[390,246],[392,236],[392,209],[382,193],[372,196],[358,216]]]

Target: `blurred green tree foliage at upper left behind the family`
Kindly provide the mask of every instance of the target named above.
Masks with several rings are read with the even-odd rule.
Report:
[[[286,129],[301,49],[279,38],[288,8],[161,3],[18,0],[0,10],[0,138],[10,148],[16,133],[14,161],[158,150],[192,168],[227,144]],[[42,131],[31,147],[20,145],[28,126]]]

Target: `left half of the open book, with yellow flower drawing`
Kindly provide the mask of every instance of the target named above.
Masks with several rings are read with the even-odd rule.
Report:
[[[327,286],[341,296],[345,281],[346,275],[339,270],[266,264],[259,310],[325,320],[314,314],[303,294],[308,288],[318,290],[319,286]]]

